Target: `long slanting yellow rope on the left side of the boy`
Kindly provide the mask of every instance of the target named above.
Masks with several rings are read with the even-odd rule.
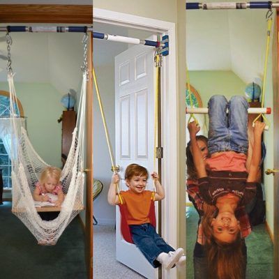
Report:
[[[103,110],[102,100],[100,98],[100,91],[99,91],[99,88],[98,88],[98,83],[97,83],[97,79],[96,79],[96,73],[95,73],[94,66],[92,67],[92,74],[93,74],[93,80],[94,80],[94,84],[95,84],[95,88],[96,88],[98,104],[99,104],[99,107],[100,107],[100,114],[102,116],[103,126],[105,128],[105,138],[107,140],[107,147],[109,148],[110,160],[111,160],[111,163],[112,163],[112,171],[114,172],[114,174],[116,174],[116,169],[117,168],[116,168],[116,166],[114,164],[114,157],[113,157],[113,154],[112,154],[112,144],[110,144],[110,137],[109,137],[109,133],[107,132],[107,123],[105,121],[105,114],[104,114],[104,110]],[[120,204],[123,204],[123,199],[122,199],[122,197],[120,195],[118,183],[116,183],[116,192],[117,192],[117,194],[119,196]]]

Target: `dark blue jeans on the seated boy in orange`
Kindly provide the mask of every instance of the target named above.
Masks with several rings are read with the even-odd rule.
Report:
[[[130,225],[129,227],[135,245],[153,267],[160,266],[160,262],[158,262],[156,258],[161,252],[168,253],[169,251],[174,251],[174,248],[169,246],[164,239],[157,234],[155,227],[151,224]]]

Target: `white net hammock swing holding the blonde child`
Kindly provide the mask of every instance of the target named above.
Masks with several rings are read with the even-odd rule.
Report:
[[[86,50],[85,48],[84,53],[87,51],[87,48]],[[66,195],[59,216],[51,221],[45,221],[40,218],[32,197],[40,173],[48,165],[33,149],[27,135],[27,130],[23,126],[24,122],[16,116],[15,107],[18,106],[13,82],[14,74],[11,70],[8,72],[10,89],[10,132],[6,128],[6,135],[10,135],[10,160],[12,163],[11,176],[13,184],[12,211],[36,237],[38,243],[43,245],[54,245],[71,220],[84,209],[84,123],[86,81],[88,79],[87,67],[84,68],[77,112],[77,124],[73,131],[72,144],[60,179],[63,193]],[[5,119],[3,120],[5,122]],[[47,143],[45,145],[47,146]]]

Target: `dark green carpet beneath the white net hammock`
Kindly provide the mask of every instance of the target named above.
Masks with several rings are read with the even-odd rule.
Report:
[[[55,246],[39,246],[34,236],[0,205],[0,278],[86,279],[84,232],[75,218]]]

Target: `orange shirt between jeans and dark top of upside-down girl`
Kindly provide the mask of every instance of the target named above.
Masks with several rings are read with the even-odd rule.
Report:
[[[247,156],[243,153],[220,152],[217,156],[206,159],[206,168],[212,172],[227,170],[229,172],[247,172]]]

